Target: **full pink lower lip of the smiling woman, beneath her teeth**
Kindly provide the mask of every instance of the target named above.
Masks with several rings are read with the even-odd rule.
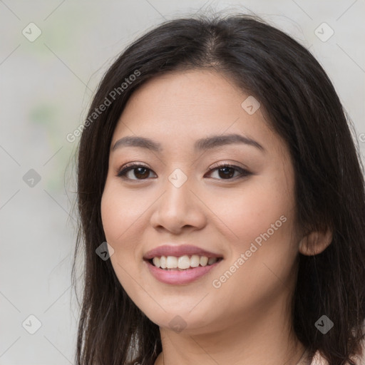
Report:
[[[159,267],[155,267],[155,265],[151,264],[149,261],[145,261],[145,263],[147,264],[150,273],[153,274],[159,282],[163,282],[165,284],[189,284],[190,282],[194,282],[196,279],[207,274],[207,272],[210,272],[210,270],[214,269],[221,261],[222,259],[211,265],[198,266],[184,271],[164,270]]]

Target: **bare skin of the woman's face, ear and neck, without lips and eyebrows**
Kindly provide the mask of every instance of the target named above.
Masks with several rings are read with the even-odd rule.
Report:
[[[331,234],[302,237],[294,221],[294,170],[289,151],[263,118],[263,107],[249,115],[247,94],[227,77],[209,70],[169,73],[135,91],[123,111],[112,143],[126,136],[163,145],[110,151],[101,215],[110,257],[130,299],[160,327],[163,352],[155,365],[294,365],[304,346],[291,330],[289,302],[296,284],[297,256],[316,255]],[[257,141],[195,153],[195,140],[238,133]],[[126,163],[147,172],[117,175]],[[213,166],[229,163],[252,173],[233,178]],[[168,177],[177,168],[187,181],[175,187]],[[140,176],[142,175],[142,178]],[[231,175],[231,176],[232,176]],[[138,178],[140,180],[138,180]],[[286,222],[219,288],[212,285],[280,217]],[[307,245],[316,243],[316,248]],[[196,245],[224,258],[195,282],[163,284],[143,255],[165,244]],[[183,331],[170,328],[176,316]]]

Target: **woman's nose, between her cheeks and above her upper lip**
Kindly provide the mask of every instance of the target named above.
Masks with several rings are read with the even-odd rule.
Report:
[[[150,223],[155,229],[165,229],[178,235],[183,230],[201,230],[205,226],[205,205],[193,191],[189,180],[178,187],[167,179],[163,189],[163,195],[153,205],[150,217]]]

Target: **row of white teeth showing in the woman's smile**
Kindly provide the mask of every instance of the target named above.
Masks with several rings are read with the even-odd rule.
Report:
[[[155,267],[161,269],[189,269],[190,267],[207,266],[217,262],[217,257],[208,257],[192,255],[191,257],[184,255],[180,257],[175,256],[161,256],[153,257],[153,264]]]

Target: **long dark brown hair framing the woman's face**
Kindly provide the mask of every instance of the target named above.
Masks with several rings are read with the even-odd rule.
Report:
[[[110,260],[96,255],[106,241],[101,196],[113,131],[132,93],[168,71],[207,67],[255,96],[287,143],[302,229],[333,230],[324,252],[299,255],[292,322],[311,354],[319,350],[331,365],[354,364],[351,356],[361,354],[365,318],[364,168],[351,135],[354,127],[312,54],[247,15],[166,21],[128,46],[98,86],[78,148],[81,225],[75,262],[83,250],[85,268],[76,364],[152,365],[162,351],[158,326],[130,300]],[[102,112],[101,105],[106,106]],[[73,274],[75,269],[74,264]],[[335,324],[327,334],[314,326],[323,314]]]

